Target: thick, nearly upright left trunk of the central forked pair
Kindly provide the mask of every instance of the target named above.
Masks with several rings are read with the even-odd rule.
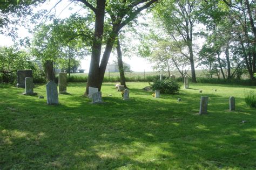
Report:
[[[95,12],[95,32],[92,42],[92,55],[91,63],[86,84],[85,95],[89,94],[89,86],[99,88],[99,60],[100,52],[102,50],[102,36],[104,29],[104,16],[105,16],[105,3],[106,0],[98,0]]]

